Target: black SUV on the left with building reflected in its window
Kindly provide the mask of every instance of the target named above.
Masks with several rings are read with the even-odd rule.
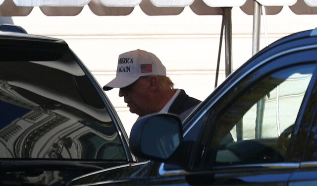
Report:
[[[0,185],[61,185],[136,162],[110,101],[63,40],[0,30]]]

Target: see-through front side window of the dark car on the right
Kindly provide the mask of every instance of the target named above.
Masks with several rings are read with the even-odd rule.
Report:
[[[314,70],[315,65],[301,65],[271,73],[215,120],[203,118],[215,121],[205,166],[283,162]]]

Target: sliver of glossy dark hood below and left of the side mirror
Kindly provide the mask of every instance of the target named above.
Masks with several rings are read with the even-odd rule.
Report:
[[[150,175],[154,162],[144,161],[129,163],[101,171],[92,172],[73,179],[67,186],[112,184],[118,182],[129,182],[132,180],[147,179]]]

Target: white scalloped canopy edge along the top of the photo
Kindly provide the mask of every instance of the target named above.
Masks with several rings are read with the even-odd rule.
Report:
[[[317,14],[317,0],[257,0],[267,15],[289,6],[296,14]],[[178,15],[189,6],[198,15],[222,15],[221,7],[239,6],[253,15],[253,0],[0,0],[0,16],[26,16],[34,6],[48,16],[74,16],[84,6],[96,15],[129,15],[140,6],[147,15]]]

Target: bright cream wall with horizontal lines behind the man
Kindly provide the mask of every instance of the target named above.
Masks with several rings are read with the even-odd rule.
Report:
[[[232,9],[233,68],[252,55],[253,17]],[[115,76],[119,54],[143,49],[156,54],[176,88],[204,100],[214,87],[221,16],[199,16],[189,7],[177,16],[147,16],[139,7],[128,16],[97,16],[88,6],[77,16],[48,17],[35,7],[26,17],[13,17],[28,33],[66,40],[95,75],[101,86]],[[267,16],[269,43],[302,30],[317,27],[316,15],[296,15],[288,7]],[[262,26],[263,28],[263,26]],[[263,29],[262,29],[263,33]],[[264,48],[264,35],[261,48]],[[224,79],[224,49],[220,78]],[[127,133],[137,116],[130,114],[118,90],[106,92]]]

